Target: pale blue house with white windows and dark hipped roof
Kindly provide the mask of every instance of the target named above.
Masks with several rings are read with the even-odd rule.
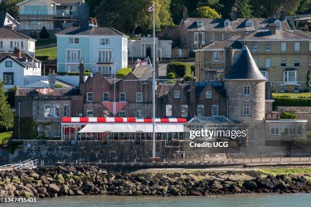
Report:
[[[78,72],[82,58],[85,69],[111,77],[128,67],[128,36],[112,27],[70,27],[56,34],[57,72]]]

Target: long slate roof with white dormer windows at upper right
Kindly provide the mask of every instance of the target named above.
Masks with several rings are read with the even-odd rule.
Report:
[[[246,26],[247,18],[238,18],[236,21],[231,21],[231,26],[224,26],[226,18],[188,18],[183,20],[188,31],[215,31],[215,32],[251,32],[258,28],[268,27],[270,23],[274,23],[277,18],[251,18],[253,26]],[[203,21],[203,27],[198,27],[197,21]],[[287,21],[281,21],[282,29],[291,29]]]

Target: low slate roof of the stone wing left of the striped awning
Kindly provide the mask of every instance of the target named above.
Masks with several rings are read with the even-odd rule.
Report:
[[[38,91],[36,91],[37,88],[17,88],[16,96],[35,96],[35,95],[41,95],[41,96],[76,96],[80,95],[80,89],[79,88],[54,88],[53,92],[50,94],[40,94]]]

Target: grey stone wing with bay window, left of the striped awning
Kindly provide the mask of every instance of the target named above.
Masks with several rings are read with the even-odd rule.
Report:
[[[15,89],[16,138],[60,137],[61,117],[82,113],[79,88],[20,88]],[[20,109],[20,111],[19,111]],[[18,124],[19,123],[19,124]],[[28,129],[28,130],[25,130]]]

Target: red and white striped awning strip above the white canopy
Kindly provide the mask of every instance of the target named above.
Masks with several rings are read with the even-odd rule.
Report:
[[[155,118],[155,123],[186,123],[185,118]],[[152,119],[136,117],[63,117],[61,123],[152,123]]]

